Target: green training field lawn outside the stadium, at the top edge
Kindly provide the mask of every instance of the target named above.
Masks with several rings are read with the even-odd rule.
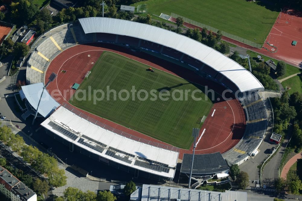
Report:
[[[173,12],[259,44],[279,14],[244,0],[148,0],[133,5],[140,4],[147,4],[149,14]]]

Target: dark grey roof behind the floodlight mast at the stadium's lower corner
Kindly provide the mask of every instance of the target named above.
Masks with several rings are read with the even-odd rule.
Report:
[[[184,154],[180,172],[190,173],[192,154]],[[195,154],[192,174],[210,175],[229,170],[219,152],[213,154]]]

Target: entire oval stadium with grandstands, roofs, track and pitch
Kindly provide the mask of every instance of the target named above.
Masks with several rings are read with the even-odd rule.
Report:
[[[52,72],[57,78],[48,85],[37,109],[41,83],[46,84]],[[47,134],[69,151],[134,177],[172,180],[182,160],[186,164],[181,171],[187,175],[193,149],[191,129],[196,127],[200,133],[194,162],[203,164],[194,165],[199,179],[193,185],[197,187],[227,171],[226,164],[241,164],[251,157],[268,124],[258,93],[264,87],[251,72],[193,39],[132,21],[82,18],[53,28],[33,44],[26,79],[20,96],[32,111],[26,111],[24,118],[38,110]],[[123,107],[121,102],[107,101],[92,107],[92,102],[72,99],[88,85],[108,83],[140,83],[157,92],[199,89],[201,99],[211,90],[214,99],[195,101],[198,104],[167,101],[170,107],[163,108],[160,101],[137,107],[135,101],[125,101]]]

